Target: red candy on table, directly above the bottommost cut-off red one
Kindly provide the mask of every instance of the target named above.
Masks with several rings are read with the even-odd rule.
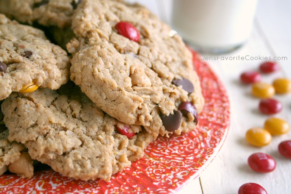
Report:
[[[276,162],[275,159],[265,153],[254,153],[247,159],[248,165],[256,172],[269,173],[275,170]]]

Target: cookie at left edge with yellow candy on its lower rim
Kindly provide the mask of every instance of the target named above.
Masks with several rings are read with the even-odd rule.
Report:
[[[69,58],[44,32],[0,14],[0,100],[13,91],[58,89],[68,81]]]

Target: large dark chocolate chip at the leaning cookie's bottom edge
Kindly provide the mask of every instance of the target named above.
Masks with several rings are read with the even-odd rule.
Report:
[[[169,132],[177,130],[181,125],[182,113],[180,111],[174,110],[174,114],[169,114],[168,116],[161,114],[162,125]]]

